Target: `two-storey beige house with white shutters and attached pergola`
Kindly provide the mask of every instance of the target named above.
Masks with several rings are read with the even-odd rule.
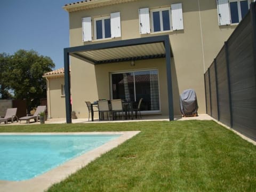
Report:
[[[179,95],[186,89],[196,91],[198,113],[205,113],[204,72],[250,3],[91,0],[63,6],[70,33],[65,72],[72,71],[65,73],[67,123],[71,110],[87,117],[84,101],[117,98],[143,98],[143,114],[172,120],[180,115]]]

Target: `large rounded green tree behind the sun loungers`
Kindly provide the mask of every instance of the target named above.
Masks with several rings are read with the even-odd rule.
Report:
[[[14,91],[15,99],[26,99],[28,113],[46,98],[46,80],[43,74],[55,67],[49,57],[37,52],[19,50],[10,57],[10,63],[2,75]]]

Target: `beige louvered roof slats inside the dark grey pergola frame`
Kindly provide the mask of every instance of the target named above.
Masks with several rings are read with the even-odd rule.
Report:
[[[164,43],[150,43],[71,53],[94,64],[165,57]]]

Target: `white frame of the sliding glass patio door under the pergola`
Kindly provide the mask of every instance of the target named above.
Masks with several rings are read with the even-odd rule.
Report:
[[[134,69],[134,70],[122,70],[122,71],[114,71],[114,72],[110,72],[109,73],[109,87],[110,87],[110,98],[113,99],[113,82],[112,82],[112,75],[114,74],[123,74],[123,73],[133,73],[135,74],[135,72],[139,72],[139,71],[157,71],[157,81],[158,81],[158,102],[159,102],[159,110],[147,110],[147,111],[141,111],[141,113],[143,114],[159,114],[162,113],[162,109],[161,109],[161,93],[160,93],[160,81],[159,81],[159,70],[157,68],[150,68],[150,69]],[[135,78],[135,76],[134,76]],[[135,102],[137,102],[136,100],[136,87],[135,87],[135,81],[134,81],[134,100]]]

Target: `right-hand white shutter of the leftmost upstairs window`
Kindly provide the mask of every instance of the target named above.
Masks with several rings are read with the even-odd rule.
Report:
[[[121,37],[120,12],[110,14],[111,37]]]

